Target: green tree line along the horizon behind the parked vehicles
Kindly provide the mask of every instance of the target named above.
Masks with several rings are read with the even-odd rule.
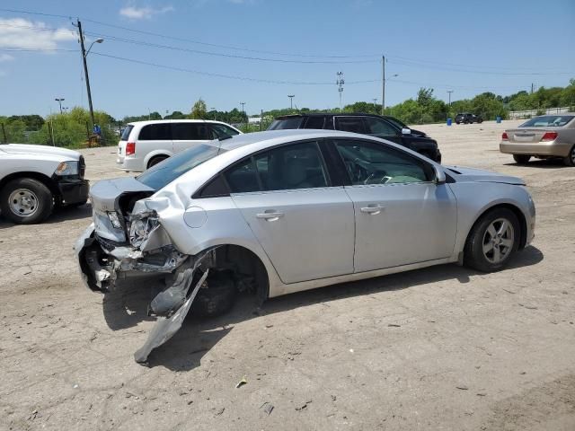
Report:
[[[259,130],[259,127],[248,127],[248,116],[245,112],[233,110],[208,110],[206,101],[196,101],[190,112],[174,110],[166,112],[164,117],[157,111],[147,114],[114,119],[102,110],[94,111],[95,123],[102,128],[103,145],[116,145],[119,133],[128,122],[147,119],[215,119],[229,124],[246,125],[243,131]],[[534,92],[516,92],[509,96],[496,95],[493,92],[482,92],[472,99],[453,101],[451,105],[439,100],[432,88],[420,88],[416,97],[385,108],[385,115],[401,119],[407,124],[426,124],[443,122],[455,118],[457,112],[473,112],[483,119],[507,119],[510,110],[537,110],[544,113],[547,108],[571,107],[575,110],[575,79],[565,87],[540,87]],[[279,109],[263,112],[263,128],[282,115],[312,112],[361,112],[381,113],[381,104],[357,101],[340,109],[313,110]],[[260,115],[256,115],[259,117]],[[90,115],[87,110],[75,107],[63,113],[50,114],[45,119],[40,115],[0,116],[0,142],[57,145],[77,148],[83,146],[93,136]]]

